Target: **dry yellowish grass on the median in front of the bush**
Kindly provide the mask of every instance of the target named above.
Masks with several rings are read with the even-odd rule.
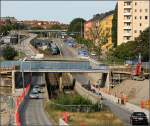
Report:
[[[45,106],[48,115],[53,118],[54,125],[58,125],[59,118],[61,118],[64,111],[56,110],[49,107],[49,102]],[[110,111],[104,110],[101,112],[68,112],[69,124],[71,126],[123,126],[123,123],[114,116]]]

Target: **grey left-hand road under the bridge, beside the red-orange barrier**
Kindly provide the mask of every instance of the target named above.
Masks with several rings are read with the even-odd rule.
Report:
[[[34,74],[32,85],[43,84],[44,80],[41,74]],[[43,107],[44,93],[40,93],[39,99],[30,99],[28,96],[21,110],[21,122],[23,126],[52,126]]]

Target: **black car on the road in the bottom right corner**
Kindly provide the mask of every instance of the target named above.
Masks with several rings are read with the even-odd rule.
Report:
[[[148,119],[144,112],[133,112],[130,116],[132,125],[148,125]]]

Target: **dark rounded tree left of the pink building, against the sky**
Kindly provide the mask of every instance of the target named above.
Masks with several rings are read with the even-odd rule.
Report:
[[[83,18],[75,18],[71,21],[68,32],[79,32],[84,31],[84,22],[85,20]]]

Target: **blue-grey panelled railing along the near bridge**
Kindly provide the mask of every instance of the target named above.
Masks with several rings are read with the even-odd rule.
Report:
[[[91,69],[90,63],[75,61],[3,61],[0,67],[12,68],[16,66],[17,70],[47,70],[47,69]]]

